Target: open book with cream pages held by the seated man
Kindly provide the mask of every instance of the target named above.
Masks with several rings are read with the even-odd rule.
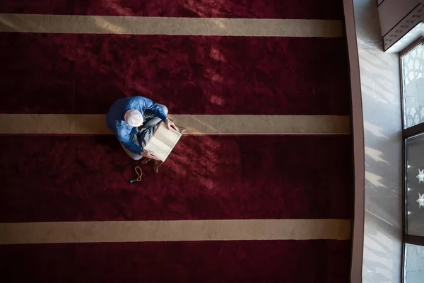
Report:
[[[160,123],[153,137],[144,146],[144,150],[153,152],[163,162],[170,155],[181,136],[182,133],[172,128],[167,129],[164,123]]]

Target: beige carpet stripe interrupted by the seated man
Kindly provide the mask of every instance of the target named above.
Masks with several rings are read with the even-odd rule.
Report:
[[[349,134],[348,116],[170,115],[187,134]],[[0,134],[110,134],[105,115],[0,114]]]

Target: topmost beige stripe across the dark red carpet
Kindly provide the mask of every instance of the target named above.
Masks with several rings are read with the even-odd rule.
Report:
[[[0,14],[0,32],[342,37],[341,21]]]

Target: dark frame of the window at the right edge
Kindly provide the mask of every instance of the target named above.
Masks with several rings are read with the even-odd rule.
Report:
[[[407,149],[407,140],[410,137],[416,136],[418,134],[424,134],[424,122],[421,122],[418,125],[414,125],[408,128],[405,128],[405,113],[404,113],[404,73],[402,68],[402,57],[404,54],[413,50],[413,48],[418,45],[424,45],[424,37],[418,38],[418,40],[408,45],[404,50],[399,52],[399,75],[401,82],[401,112],[402,112],[402,264],[401,264],[401,279],[402,283],[405,282],[405,247],[406,244],[412,244],[416,246],[424,246],[424,236],[414,236],[408,235],[408,180],[406,178],[406,172],[408,170],[408,149]]]

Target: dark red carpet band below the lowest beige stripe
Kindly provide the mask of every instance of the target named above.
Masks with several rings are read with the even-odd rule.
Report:
[[[0,264],[6,282],[347,283],[350,249],[324,240],[19,245],[0,246]]]

